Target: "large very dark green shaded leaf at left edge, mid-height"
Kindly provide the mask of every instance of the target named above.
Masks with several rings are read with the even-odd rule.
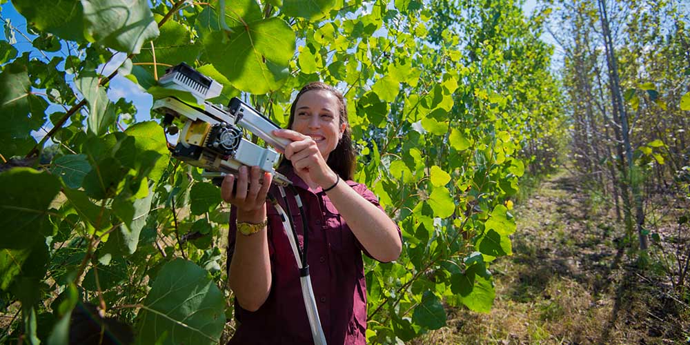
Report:
[[[57,177],[31,168],[0,173],[0,248],[30,248],[52,234],[48,206],[60,190]]]

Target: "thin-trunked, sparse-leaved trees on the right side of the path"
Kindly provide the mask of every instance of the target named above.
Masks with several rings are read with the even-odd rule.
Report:
[[[612,201],[627,243],[647,250],[649,216],[659,195],[687,205],[690,181],[690,24],[682,1],[549,1],[552,32],[563,49],[563,83],[573,120],[575,166]],[[567,34],[566,34],[567,32]],[[687,237],[678,215],[678,243]],[[658,215],[656,217],[658,219]],[[684,230],[683,230],[684,229]],[[686,233],[686,234],[683,234]],[[662,248],[662,256],[667,248]],[[688,246],[665,261],[686,289]]]

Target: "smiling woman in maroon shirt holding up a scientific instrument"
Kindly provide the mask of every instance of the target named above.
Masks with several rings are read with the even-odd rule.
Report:
[[[308,264],[326,342],[365,344],[361,251],[380,262],[397,259],[400,229],[373,193],[352,181],[355,151],[340,92],[320,82],[304,86],[290,107],[288,128],[274,132],[293,141],[279,171],[304,204],[306,219],[294,198],[288,201],[297,232],[302,221],[308,225]],[[297,264],[279,215],[266,204],[271,176],[260,171],[242,167],[221,186],[223,199],[233,204],[228,284],[238,326],[230,344],[309,344]]]

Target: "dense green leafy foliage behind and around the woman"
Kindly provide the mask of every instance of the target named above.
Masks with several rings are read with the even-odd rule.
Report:
[[[544,19],[513,1],[12,6],[37,38],[20,54],[6,24],[0,42],[0,154],[43,160],[0,173],[0,306],[21,306],[2,342],[66,344],[81,302],[132,325],[144,344],[216,343],[232,318],[228,208],[197,168],[170,159],[157,121],[132,120],[145,109],[108,99],[115,75],[157,95],[155,79],[186,61],[224,84],[212,101],[244,95],[281,124],[304,83],[344,91],[356,179],[404,236],[396,262],[366,259],[375,344],[444,326],[444,304],[490,311],[491,262],[512,253],[520,178],[548,170],[564,144]],[[57,51],[66,53],[43,53]],[[37,143],[42,126],[52,130]],[[184,315],[157,298],[172,291]]]

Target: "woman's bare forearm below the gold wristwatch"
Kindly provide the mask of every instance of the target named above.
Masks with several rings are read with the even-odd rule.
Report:
[[[261,217],[242,217],[237,221],[259,223]],[[262,219],[265,219],[265,211]],[[228,284],[235,293],[237,302],[247,311],[257,311],[270,293],[270,258],[266,228],[250,236],[237,233],[235,253],[230,262]]]

